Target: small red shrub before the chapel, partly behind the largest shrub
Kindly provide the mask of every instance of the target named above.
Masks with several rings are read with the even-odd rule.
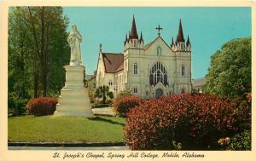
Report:
[[[113,110],[119,113],[119,116],[125,117],[131,108],[139,106],[143,102],[144,100],[139,96],[125,95],[113,101]]]

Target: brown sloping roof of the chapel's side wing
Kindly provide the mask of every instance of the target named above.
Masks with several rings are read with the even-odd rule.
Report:
[[[114,53],[102,53],[106,73],[115,73],[124,69],[124,55]]]

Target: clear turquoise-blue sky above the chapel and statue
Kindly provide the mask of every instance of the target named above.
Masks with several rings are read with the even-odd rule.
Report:
[[[69,18],[67,32],[75,24],[83,37],[81,52],[86,74],[96,70],[100,43],[102,52],[123,53],[133,14],[138,34],[143,32],[144,44],[158,36],[155,27],[160,25],[161,37],[170,45],[182,20],[184,37],[187,39],[189,34],[192,46],[192,78],[206,76],[211,55],[224,43],[251,37],[251,8],[245,7],[64,7],[64,15]]]

